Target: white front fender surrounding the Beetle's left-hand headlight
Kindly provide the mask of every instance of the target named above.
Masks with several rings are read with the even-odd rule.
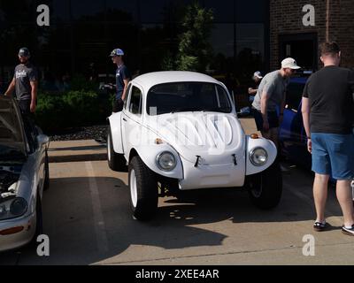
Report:
[[[132,149],[133,150],[133,149]],[[150,145],[142,145],[135,147],[136,152],[138,153],[139,157],[142,158],[144,164],[146,164],[152,172],[156,172],[158,175],[171,178],[171,179],[178,179],[183,180],[183,166],[181,163],[181,157],[177,153],[175,149],[169,144],[150,144]],[[173,153],[174,157],[177,161],[176,168],[173,169],[171,172],[165,172],[158,168],[157,158],[158,155],[163,153],[164,151],[169,151]]]

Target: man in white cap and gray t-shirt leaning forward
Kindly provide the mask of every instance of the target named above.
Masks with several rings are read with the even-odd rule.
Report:
[[[266,74],[252,103],[253,113],[262,135],[278,147],[278,128],[282,123],[286,91],[290,77],[300,69],[293,58],[281,62],[281,70]],[[279,109],[279,115],[278,111]]]

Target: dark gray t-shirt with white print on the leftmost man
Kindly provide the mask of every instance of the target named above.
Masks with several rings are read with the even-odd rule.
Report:
[[[27,65],[17,65],[13,75],[16,83],[16,96],[19,100],[31,99],[31,81],[38,80],[38,73],[34,65],[27,63]]]

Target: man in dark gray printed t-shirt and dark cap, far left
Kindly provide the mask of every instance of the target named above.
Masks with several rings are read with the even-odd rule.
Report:
[[[28,116],[35,113],[38,88],[38,73],[29,62],[29,50],[24,47],[19,50],[19,65],[15,68],[13,80],[5,92],[5,96],[11,96],[15,90],[22,114]]]

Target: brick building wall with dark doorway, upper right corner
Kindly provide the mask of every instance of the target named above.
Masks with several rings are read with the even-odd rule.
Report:
[[[342,66],[354,67],[354,1],[270,0],[270,69],[283,57],[295,57],[299,65],[316,70],[318,44],[338,42]]]

